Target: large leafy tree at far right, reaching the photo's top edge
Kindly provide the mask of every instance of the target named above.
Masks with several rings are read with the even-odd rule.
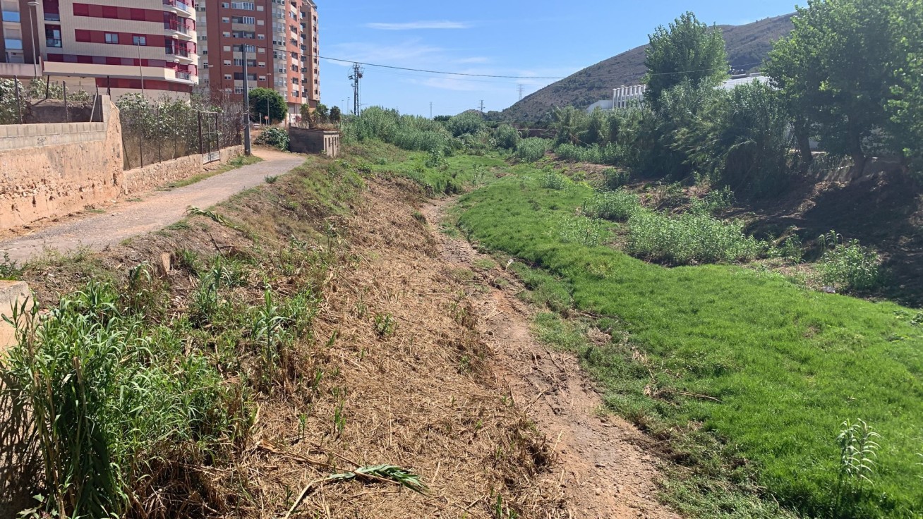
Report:
[[[795,114],[805,159],[809,134],[816,133],[821,147],[864,166],[869,137],[890,124],[885,111],[894,84],[890,14],[906,3],[809,0],[808,7],[798,8],[795,29],[776,43],[766,72]]]

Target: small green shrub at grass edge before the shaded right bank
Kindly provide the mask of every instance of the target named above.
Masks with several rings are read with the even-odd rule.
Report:
[[[818,241],[823,254],[817,268],[823,283],[852,290],[874,289],[881,283],[881,255],[859,245],[858,240],[846,242],[834,230]]]

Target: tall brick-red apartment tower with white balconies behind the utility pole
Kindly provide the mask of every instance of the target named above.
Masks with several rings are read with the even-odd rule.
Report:
[[[294,121],[320,99],[318,6],[312,0],[202,0],[198,5],[201,88],[242,99],[247,87],[273,88]]]

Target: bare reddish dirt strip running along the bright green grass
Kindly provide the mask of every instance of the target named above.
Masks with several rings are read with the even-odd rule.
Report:
[[[422,209],[433,229],[438,229],[452,201]],[[485,257],[462,239],[434,235],[444,259],[455,268],[470,268],[474,260]],[[485,274],[503,275],[499,268]],[[656,460],[637,446],[646,441],[644,436],[628,422],[599,412],[602,398],[573,356],[552,352],[533,339],[532,312],[512,295],[514,291],[473,294],[478,322],[497,355],[497,385],[508,387],[516,403],[555,443],[562,467],[559,485],[570,516],[677,519],[655,499]]]

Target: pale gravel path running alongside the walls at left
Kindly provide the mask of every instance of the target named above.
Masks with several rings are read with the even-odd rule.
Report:
[[[186,187],[155,192],[140,201],[119,202],[108,207],[104,214],[78,217],[4,240],[0,242],[0,255],[6,253],[10,259],[22,262],[42,254],[45,249],[66,252],[90,247],[100,250],[132,236],[162,229],[182,219],[188,206],[213,206],[263,183],[268,175],[285,173],[305,161],[298,155],[265,148],[255,149],[254,153],[263,161]]]

